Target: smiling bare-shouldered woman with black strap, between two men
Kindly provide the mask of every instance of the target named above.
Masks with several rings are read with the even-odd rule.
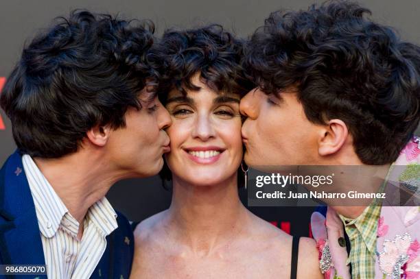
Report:
[[[312,239],[299,244],[238,197],[239,102],[252,88],[240,40],[220,25],[167,31],[149,58],[172,117],[173,195],[137,226],[131,278],[321,278]]]

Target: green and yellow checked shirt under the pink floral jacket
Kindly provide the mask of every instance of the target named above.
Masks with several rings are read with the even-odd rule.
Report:
[[[347,258],[347,265],[351,263],[351,278],[375,278],[377,221],[380,214],[381,206],[371,205],[355,219],[340,215],[351,245]]]

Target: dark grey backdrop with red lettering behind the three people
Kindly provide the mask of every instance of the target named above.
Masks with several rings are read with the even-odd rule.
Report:
[[[25,42],[36,32],[51,25],[56,16],[67,16],[75,8],[93,12],[120,14],[124,18],[151,19],[157,34],[167,27],[187,28],[197,24],[220,23],[238,36],[248,36],[262,25],[272,11],[279,9],[306,9],[308,0],[211,0],[211,1],[139,1],[139,0],[0,0],[0,87],[19,59]],[[359,1],[373,12],[372,18],[397,29],[402,38],[420,43],[420,5],[416,0]],[[420,134],[420,129],[417,129]],[[14,151],[10,122],[0,112],[0,163]],[[244,189],[240,195],[245,199]],[[129,219],[140,221],[167,208],[171,193],[161,186],[159,178],[125,180],[108,193],[113,206]],[[310,212],[313,208],[250,208],[254,213],[292,234],[307,235]],[[289,223],[293,220],[291,223]]]

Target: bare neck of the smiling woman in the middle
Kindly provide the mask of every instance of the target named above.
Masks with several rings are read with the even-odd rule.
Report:
[[[236,175],[210,186],[192,185],[174,176],[173,185],[167,224],[177,241],[205,255],[239,236],[248,211],[239,199]]]

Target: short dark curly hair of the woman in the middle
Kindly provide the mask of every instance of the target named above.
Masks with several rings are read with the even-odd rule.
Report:
[[[150,50],[159,93],[165,95],[173,88],[199,90],[191,77],[200,73],[203,82],[215,92],[244,95],[252,88],[244,76],[241,60],[243,42],[223,29],[208,25],[185,31],[167,30],[159,43]]]

